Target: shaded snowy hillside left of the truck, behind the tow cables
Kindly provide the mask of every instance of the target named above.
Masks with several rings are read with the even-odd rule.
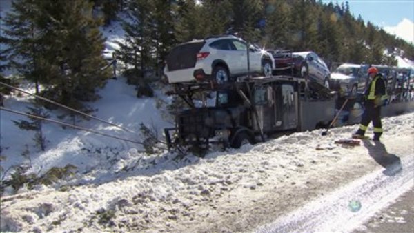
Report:
[[[155,93],[160,98],[137,99],[135,87],[126,85],[125,79],[110,79],[106,87],[99,92],[101,99],[90,103],[93,109],[97,110],[93,114],[99,119],[120,125],[134,133],[95,120],[85,121],[80,117],[77,117],[75,125],[118,136],[122,139],[142,141],[143,136],[139,128],[140,124],[144,123],[148,128],[154,130],[161,139],[163,129],[170,127],[171,124],[163,119],[164,110],[157,108],[157,101],[160,102],[158,105],[162,105],[161,98],[166,101],[166,97],[160,91]],[[26,106],[30,105],[29,100],[31,98],[13,95],[6,98],[4,107],[26,112]],[[52,111],[50,112],[50,119],[73,123],[68,117],[64,120],[58,119],[57,116],[60,114],[62,112]],[[95,176],[95,178],[98,178],[102,175],[101,173],[114,173],[117,169],[124,167],[123,164],[115,163],[118,156],[128,157],[131,151],[135,153],[143,151],[140,144],[71,128],[63,129],[61,125],[46,123],[43,127],[44,136],[47,140],[46,151],[41,152],[32,141],[34,132],[22,131],[12,123],[12,121],[25,119],[25,117],[1,111],[0,119],[2,155],[6,156],[6,160],[1,162],[1,166],[5,170],[13,165],[30,163],[29,165],[32,168],[29,172],[43,174],[50,168],[72,164],[81,173],[91,170],[98,172],[99,174]],[[25,152],[28,152],[28,155],[22,156]],[[10,172],[6,174],[6,177],[10,175]]]

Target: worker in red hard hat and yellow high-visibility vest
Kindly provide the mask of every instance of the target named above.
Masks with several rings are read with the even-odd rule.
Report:
[[[364,92],[365,112],[362,114],[359,129],[352,135],[352,137],[364,138],[368,125],[372,121],[374,126],[373,140],[380,141],[382,135],[381,106],[386,104],[388,96],[386,95],[384,78],[382,77],[382,74],[378,72],[377,68],[369,68],[368,77],[370,82],[368,88],[366,88]]]

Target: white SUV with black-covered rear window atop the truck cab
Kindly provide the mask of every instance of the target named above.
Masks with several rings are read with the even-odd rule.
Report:
[[[249,50],[247,50],[249,48]],[[236,81],[248,74],[272,74],[270,53],[234,36],[208,37],[177,45],[166,57],[169,83]]]

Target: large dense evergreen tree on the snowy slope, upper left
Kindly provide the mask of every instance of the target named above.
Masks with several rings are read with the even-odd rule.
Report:
[[[43,54],[49,70],[48,96],[72,107],[95,100],[95,88],[102,87],[110,73],[101,69],[106,66],[101,20],[92,16],[92,3],[44,1],[39,12],[39,28],[46,32],[48,45]]]

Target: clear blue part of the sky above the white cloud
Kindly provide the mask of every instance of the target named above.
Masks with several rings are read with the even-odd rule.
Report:
[[[324,3],[341,4],[344,0],[323,0]],[[351,14],[361,14],[365,23],[371,21],[377,26],[397,26],[402,19],[414,21],[414,0],[348,0]]]

